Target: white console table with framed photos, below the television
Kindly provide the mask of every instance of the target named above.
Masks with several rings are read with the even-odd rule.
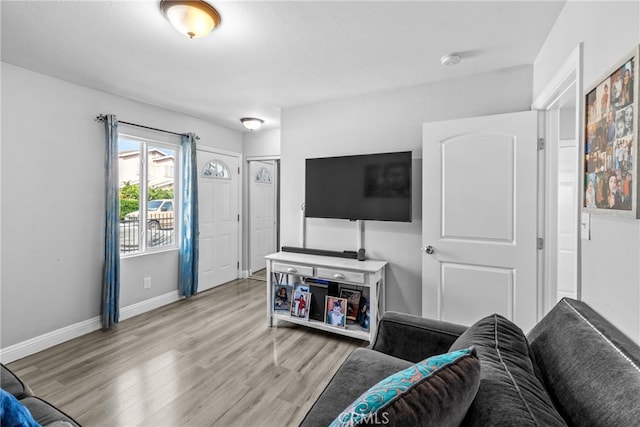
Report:
[[[274,320],[295,323],[351,338],[371,342],[376,333],[380,315],[385,311],[385,269],[387,262],[329,256],[278,252],[267,255],[267,325]],[[287,311],[274,308],[274,287],[277,284],[295,283],[304,279],[319,279],[337,283],[338,286],[356,288],[369,300],[369,328],[347,322],[346,328],[329,325],[319,320],[305,320],[290,316]],[[335,295],[338,296],[338,295]],[[324,306],[324,301],[322,302]]]

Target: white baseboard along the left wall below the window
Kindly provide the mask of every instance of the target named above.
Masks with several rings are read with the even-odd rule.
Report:
[[[151,311],[155,308],[165,306],[172,302],[178,301],[181,298],[182,297],[176,290],[148,299],[146,301],[141,301],[139,303],[121,308],[120,321],[130,319],[134,316],[146,313],[147,311]],[[82,322],[78,322],[73,325],[65,326],[64,328],[60,328],[55,331],[51,331],[35,338],[20,342],[18,344],[11,345],[7,348],[0,349],[0,362],[10,363],[14,360],[22,359],[23,357],[27,357],[32,354],[38,353],[39,351],[46,350],[47,348],[53,347],[54,345],[62,344],[65,341],[69,341],[82,335],[86,335],[90,332],[97,331],[100,328],[102,328],[100,316],[83,320]]]

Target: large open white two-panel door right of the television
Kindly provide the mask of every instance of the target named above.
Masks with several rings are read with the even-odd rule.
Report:
[[[422,315],[537,320],[537,112],[423,126]]]

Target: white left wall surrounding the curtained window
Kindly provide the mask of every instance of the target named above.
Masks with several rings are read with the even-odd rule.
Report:
[[[100,314],[101,113],[242,152],[242,134],[2,63],[1,341],[5,349]],[[142,278],[152,288],[142,291]],[[177,288],[177,251],[123,260],[121,308]]]

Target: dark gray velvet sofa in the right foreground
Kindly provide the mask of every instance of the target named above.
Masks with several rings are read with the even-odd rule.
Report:
[[[361,424],[640,425],[640,347],[587,304],[565,298],[526,336],[499,315],[465,327],[387,312],[374,342],[347,358],[301,426],[340,421],[345,408],[389,375],[465,347],[477,355],[479,381],[448,389],[441,379],[433,380],[440,389],[412,386],[412,395],[397,395]],[[468,372],[456,371],[457,378]],[[475,393],[469,402],[460,397],[465,388]],[[439,394],[437,405],[421,393]]]

